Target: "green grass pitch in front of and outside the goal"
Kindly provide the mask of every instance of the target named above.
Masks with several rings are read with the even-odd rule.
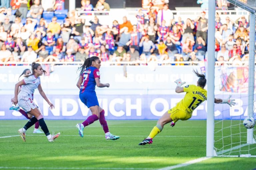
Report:
[[[1,120],[0,137],[18,135],[17,130],[26,122]],[[116,141],[105,140],[98,121],[84,129],[83,138],[75,127],[81,120],[45,122],[50,132],[61,132],[54,142],[48,142],[44,134],[33,134],[34,127],[27,131],[26,142],[20,136],[0,138],[0,169],[155,170],[206,155],[206,121],[179,121],[173,128],[166,125],[153,144],[144,146],[138,143],[147,137],[156,121],[107,121],[110,132],[120,136]],[[256,155],[256,149],[250,152]],[[254,168],[256,158],[214,157],[177,169]]]

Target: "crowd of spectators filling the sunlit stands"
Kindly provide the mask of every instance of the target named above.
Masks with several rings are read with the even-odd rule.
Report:
[[[208,19],[174,19],[168,4],[158,9],[139,9],[137,24],[126,16],[123,23],[101,25],[94,17],[90,25],[74,11],[65,20],[44,19],[44,12],[64,10],[64,0],[11,0],[0,9],[0,60],[2,62],[84,61],[93,55],[107,61],[204,61],[207,59]],[[83,11],[109,11],[105,0],[93,7],[81,1]],[[248,60],[249,23],[245,16],[235,21],[215,21],[215,59],[238,65]],[[182,65],[182,64],[179,64]]]

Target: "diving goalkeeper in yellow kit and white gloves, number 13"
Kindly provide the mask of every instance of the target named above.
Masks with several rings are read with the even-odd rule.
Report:
[[[207,100],[207,91],[204,89],[206,85],[205,75],[199,74],[198,71],[193,70],[197,77],[199,77],[196,85],[187,85],[181,87],[186,82],[182,82],[181,79],[175,81],[177,87],[176,93],[186,92],[184,98],[172,109],[168,110],[163,116],[157,121],[156,126],[151,130],[149,136],[145,138],[139,145],[153,143],[153,138],[163,130],[165,124],[170,122],[173,127],[178,120],[186,121],[191,118],[192,112],[205,100]],[[234,99],[230,99],[231,95],[227,99],[216,99],[214,103],[227,103],[230,106],[235,105]]]

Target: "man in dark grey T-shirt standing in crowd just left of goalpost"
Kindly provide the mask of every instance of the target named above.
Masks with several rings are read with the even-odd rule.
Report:
[[[207,42],[207,30],[208,30],[208,19],[205,18],[205,12],[201,12],[201,16],[195,19],[195,22],[198,22],[196,29],[196,38],[201,36],[205,42]]]

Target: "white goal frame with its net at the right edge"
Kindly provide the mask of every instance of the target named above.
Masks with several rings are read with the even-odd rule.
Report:
[[[208,3],[208,35],[207,35],[207,129],[206,129],[206,156],[252,156],[256,157],[256,142],[255,135],[253,134],[253,128],[247,129],[244,128],[242,122],[244,116],[254,117],[254,111],[256,109],[254,100],[254,88],[255,88],[255,12],[256,12],[256,1],[255,0],[228,0],[230,3],[234,4],[235,7],[240,7],[243,10],[246,10],[250,13],[249,16],[249,60],[247,60],[247,64],[242,65],[237,68],[236,66],[223,66],[225,70],[229,70],[231,72],[226,72],[226,75],[218,75],[219,79],[223,79],[222,81],[228,81],[233,72],[236,74],[241,74],[243,70],[248,69],[248,86],[246,84],[246,88],[248,91],[245,92],[233,92],[233,91],[223,91],[223,93],[219,94],[223,97],[227,97],[229,94],[237,96],[237,105],[242,108],[247,106],[248,110],[245,109],[245,112],[241,112],[242,115],[235,115],[232,113],[234,110],[229,110],[229,117],[224,117],[221,121],[215,122],[214,116],[214,96],[215,96],[215,71],[218,69],[218,66],[215,68],[215,7],[216,1],[210,0]],[[223,13],[222,13],[223,14]],[[239,72],[240,71],[240,72]],[[239,72],[239,73],[238,73]],[[237,76],[235,75],[235,77]],[[226,76],[226,77],[225,77]],[[231,76],[231,77],[232,77]],[[226,80],[224,79],[226,78]],[[240,76],[241,77],[241,76]],[[236,77],[237,78],[237,77]],[[244,84],[238,84],[238,86],[242,86]],[[216,85],[218,87],[218,84]],[[243,102],[247,101],[247,105]],[[242,100],[246,98],[245,100]],[[240,102],[240,103],[239,103]],[[237,106],[236,105],[236,106]],[[255,106],[254,106],[255,105]],[[223,106],[226,107],[226,106]],[[242,108],[243,109],[243,108]],[[223,110],[222,112],[227,112],[227,110]],[[224,113],[222,113],[224,115]],[[235,116],[234,116],[235,115]],[[240,117],[239,117],[240,116]],[[234,117],[236,117],[234,119]],[[237,117],[239,117],[237,119]],[[218,119],[220,120],[220,119]],[[255,128],[254,128],[255,129]],[[215,131],[216,130],[216,131]],[[237,130],[237,131],[235,131]],[[216,135],[219,134],[219,135]],[[218,137],[220,137],[218,139]],[[244,140],[245,139],[245,140]],[[217,142],[217,143],[216,143]],[[221,145],[221,146],[220,146]],[[253,150],[253,151],[252,151]],[[252,151],[252,155],[251,155]]]

